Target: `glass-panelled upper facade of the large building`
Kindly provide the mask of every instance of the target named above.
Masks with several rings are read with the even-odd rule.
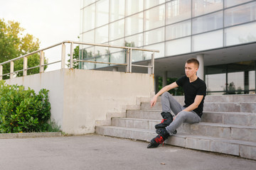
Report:
[[[81,1],[80,40],[158,49],[156,58],[256,42],[256,1],[91,0]],[[82,47],[91,60],[124,62],[124,52]],[[106,50],[112,53],[110,58]],[[134,61],[149,54],[134,52]],[[83,64],[82,68],[106,67]]]

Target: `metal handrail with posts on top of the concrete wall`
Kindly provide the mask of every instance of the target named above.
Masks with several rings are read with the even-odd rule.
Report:
[[[44,72],[44,66],[49,65],[49,64],[55,64],[55,63],[58,63],[58,62],[61,62],[61,68],[62,69],[65,68],[65,43],[70,43],[70,68],[73,68],[73,62],[93,62],[93,61],[88,61],[88,60],[73,60],[73,45],[74,44],[125,49],[126,52],[127,52],[127,61],[126,61],[125,64],[112,63],[112,62],[93,62],[93,63],[125,65],[127,67],[126,72],[132,72],[132,66],[134,66],[134,67],[148,67],[148,68],[151,69],[151,71],[149,71],[149,74],[154,74],[154,53],[159,52],[159,50],[149,50],[149,49],[143,49],[143,48],[137,48],[137,47],[103,45],[103,44],[95,44],[95,43],[65,40],[65,41],[59,42],[55,45],[45,47],[41,50],[36,50],[36,51],[30,52],[26,55],[22,55],[20,57],[16,57],[16,58],[8,60],[6,62],[0,63],[0,80],[2,79],[3,76],[6,76],[6,75],[10,75],[10,79],[13,79],[14,78],[14,73],[18,73],[18,72],[23,72],[23,76],[26,76],[27,75],[27,70],[38,68],[38,67],[40,69],[39,72],[42,73],[42,72]],[[51,63],[48,63],[48,64],[44,64],[44,52],[43,51],[48,50],[48,49],[53,48],[53,47],[56,47],[58,45],[62,45],[61,60],[59,60],[57,62],[51,62]],[[145,66],[145,65],[132,64],[132,50],[152,52],[150,65]],[[27,57],[30,56],[30,55],[36,54],[38,52],[40,52],[40,64],[38,66],[28,68],[28,58]],[[23,69],[14,72],[14,61],[20,60],[22,58],[23,58]],[[10,72],[7,73],[7,74],[3,74],[3,65],[8,64],[8,63],[10,63]]]

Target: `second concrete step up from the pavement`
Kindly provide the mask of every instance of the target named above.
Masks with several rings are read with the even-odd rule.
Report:
[[[124,128],[155,130],[154,126],[161,120],[138,118],[112,118],[112,125]],[[256,126],[224,125],[220,123],[182,123],[178,133],[220,137],[229,140],[245,140],[256,142]]]

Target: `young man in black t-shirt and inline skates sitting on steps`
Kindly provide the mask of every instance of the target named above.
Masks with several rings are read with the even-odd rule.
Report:
[[[156,99],[161,94],[162,117],[161,123],[156,125],[156,137],[148,148],[158,147],[169,136],[176,133],[181,123],[199,123],[203,115],[203,101],[206,96],[206,83],[196,76],[199,62],[195,58],[188,59],[185,64],[186,76],[176,82],[164,86],[150,101],[151,107],[155,106]],[[185,105],[181,106],[167,91],[181,86],[184,91]],[[171,111],[175,114],[173,118]]]

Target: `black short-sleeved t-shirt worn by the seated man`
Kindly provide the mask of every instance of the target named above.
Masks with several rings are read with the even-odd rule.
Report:
[[[184,107],[190,106],[195,101],[196,95],[203,95],[203,100],[199,104],[198,108],[193,110],[201,118],[203,114],[203,101],[206,96],[206,83],[203,80],[199,79],[199,77],[196,79],[196,81],[189,82],[188,77],[184,76],[178,79],[176,81],[176,84],[183,88],[185,95]]]

